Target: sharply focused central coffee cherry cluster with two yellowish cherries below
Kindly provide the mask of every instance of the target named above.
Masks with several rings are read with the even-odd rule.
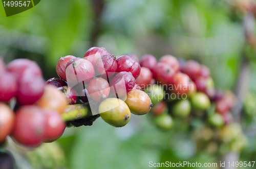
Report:
[[[89,105],[91,116],[101,116],[114,127],[125,126],[131,113],[143,115],[152,107],[150,97],[136,84],[141,67],[129,55],[116,57],[103,47],[91,47],[83,58],[59,58],[56,72],[48,84],[59,87],[69,104]],[[75,116],[69,123],[75,127],[88,124],[90,113]]]

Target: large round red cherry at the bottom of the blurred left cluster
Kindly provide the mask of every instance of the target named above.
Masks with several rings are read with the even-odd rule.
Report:
[[[46,115],[37,106],[23,106],[16,112],[14,139],[28,147],[38,146],[46,131]]]

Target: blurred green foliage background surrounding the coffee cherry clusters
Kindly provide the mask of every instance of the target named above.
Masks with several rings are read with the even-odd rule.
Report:
[[[238,95],[234,115],[249,138],[240,160],[255,161],[256,6],[252,4],[245,0],[44,0],[10,17],[1,5],[0,55],[6,63],[16,58],[36,61],[46,80],[57,77],[59,57],[83,57],[92,46],[105,47],[116,56],[133,52],[139,57],[171,54],[195,59],[210,68],[217,88]],[[184,129],[188,126],[176,123],[172,131],[162,132],[148,116],[133,115],[123,128],[99,118],[93,126],[67,128],[54,143],[13,155],[18,168],[26,169],[150,168],[150,161],[204,163],[220,158],[207,150],[197,151],[192,133]]]

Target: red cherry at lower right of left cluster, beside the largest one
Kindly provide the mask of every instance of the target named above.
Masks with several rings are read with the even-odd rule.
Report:
[[[53,142],[57,140],[66,128],[66,123],[58,112],[50,109],[45,109],[46,127],[44,134],[44,142]]]

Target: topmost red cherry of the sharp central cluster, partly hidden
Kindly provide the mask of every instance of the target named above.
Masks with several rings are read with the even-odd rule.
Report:
[[[92,65],[95,65],[96,60],[101,55],[110,55],[108,51],[106,51],[103,47],[91,47],[86,54],[84,54],[83,58],[88,60],[92,63]]]

